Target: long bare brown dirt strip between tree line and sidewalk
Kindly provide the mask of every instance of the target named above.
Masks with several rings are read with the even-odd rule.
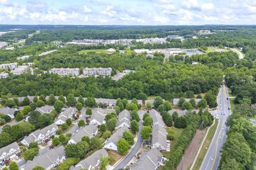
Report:
[[[196,153],[200,148],[201,142],[203,141],[205,132],[206,132],[205,129],[203,131],[201,130],[196,131],[196,134],[193,140],[191,141],[188,148],[185,150],[184,158],[183,160],[181,160],[177,170],[188,169],[190,165],[193,163]]]

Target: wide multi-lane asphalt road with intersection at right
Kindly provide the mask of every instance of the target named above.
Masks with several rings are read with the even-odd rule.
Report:
[[[223,85],[220,90],[220,94],[218,95],[218,109],[214,115],[219,118],[219,124],[211,141],[210,147],[207,149],[201,167],[199,168],[201,170],[218,169],[221,157],[220,151],[223,143],[225,143],[227,139],[226,132],[228,131],[228,127],[225,122],[227,117],[231,114],[230,110],[228,110],[228,107],[230,108],[230,103],[229,100],[227,100],[227,98],[229,98],[227,87]]]

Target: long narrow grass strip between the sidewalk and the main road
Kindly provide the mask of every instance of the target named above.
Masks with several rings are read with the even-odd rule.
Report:
[[[215,124],[209,130],[209,133],[207,134],[207,137],[206,137],[206,139],[204,141],[203,147],[202,147],[202,149],[201,149],[201,151],[200,151],[200,153],[199,153],[199,155],[197,157],[197,160],[196,160],[196,163],[195,163],[195,166],[194,166],[193,170],[194,169],[199,169],[199,167],[201,166],[201,164],[203,162],[203,159],[204,159],[204,156],[205,156],[206,151],[207,151],[207,149],[205,149],[205,148],[209,147],[209,145],[210,145],[210,143],[212,141],[212,138],[214,136],[214,133],[215,133],[215,131],[217,129],[218,122],[219,121],[217,119],[215,119]]]

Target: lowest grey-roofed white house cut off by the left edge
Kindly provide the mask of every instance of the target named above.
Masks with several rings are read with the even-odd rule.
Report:
[[[0,149],[0,163],[5,159],[11,159],[20,152],[20,147],[17,142],[14,142],[6,147]]]

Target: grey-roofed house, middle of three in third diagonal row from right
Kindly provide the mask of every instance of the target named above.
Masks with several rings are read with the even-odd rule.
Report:
[[[83,129],[79,130],[69,141],[68,143],[77,143],[82,140],[84,136],[92,138],[98,134],[98,128],[93,124],[84,126]]]

